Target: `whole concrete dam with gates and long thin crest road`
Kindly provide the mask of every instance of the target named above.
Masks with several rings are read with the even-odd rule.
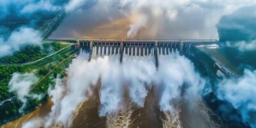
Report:
[[[126,56],[154,56],[158,67],[158,56],[179,51],[180,55],[191,56],[191,46],[215,44],[212,39],[124,39],[124,38],[49,38],[51,41],[76,43],[76,49],[94,56],[120,55],[120,62]]]

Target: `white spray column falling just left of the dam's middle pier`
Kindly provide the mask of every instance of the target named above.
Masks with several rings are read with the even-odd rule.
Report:
[[[108,63],[104,66],[100,87],[100,116],[111,115],[122,108],[123,83],[119,59],[105,56]]]

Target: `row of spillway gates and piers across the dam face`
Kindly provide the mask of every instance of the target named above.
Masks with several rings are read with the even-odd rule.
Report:
[[[158,67],[158,56],[168,55],[173,51],[179,51],[181,55],[189,54],[191,42],[182,41],[140,41],[140,40],[77,40],[77,47],[81,52],[92,56],[120,55],[123,56],[154,56]]]

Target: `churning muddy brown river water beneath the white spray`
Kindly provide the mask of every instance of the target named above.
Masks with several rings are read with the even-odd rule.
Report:
[[[157,104],[157,94],[154,88],[148,89],[148,96],[145,99],[145,106],[138,108],[129,99],[124,102],[124,107],[115,115],[99,116],[99,95],[93,95],[89,100],[83,102],[77,108],[72,128],[88,127],[115,127],[115,128],[149,128],[149,127],[184,127],[184,128],[207,128],[207,127],[225,127],[220,117],[215,115],[211,109],[207,108],[204,102],[198,100],[195,108],[191,109],[186,102],[179,102],[177,113],[169,116],[168,113],[160,111]],[[99,93],[99,87],[94,89],[96,94]],[[17,120],[1,125],[0,128],[19,128],[24,122],[33,118],[44,118],[51,111],[52,102],[48,100],[35,111],[28,113]],[[212,120],[218,118],[218,120]]]

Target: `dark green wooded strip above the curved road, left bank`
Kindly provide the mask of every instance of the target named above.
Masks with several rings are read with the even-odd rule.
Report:
[[[15,52],[12,56],[5,56],[0,58],[1,63],[27,63],[38,60],[51,54],[52,52],[58,51],[65,47],[65,44],[44,43],[40,45],[25,46],[19,52]]]

